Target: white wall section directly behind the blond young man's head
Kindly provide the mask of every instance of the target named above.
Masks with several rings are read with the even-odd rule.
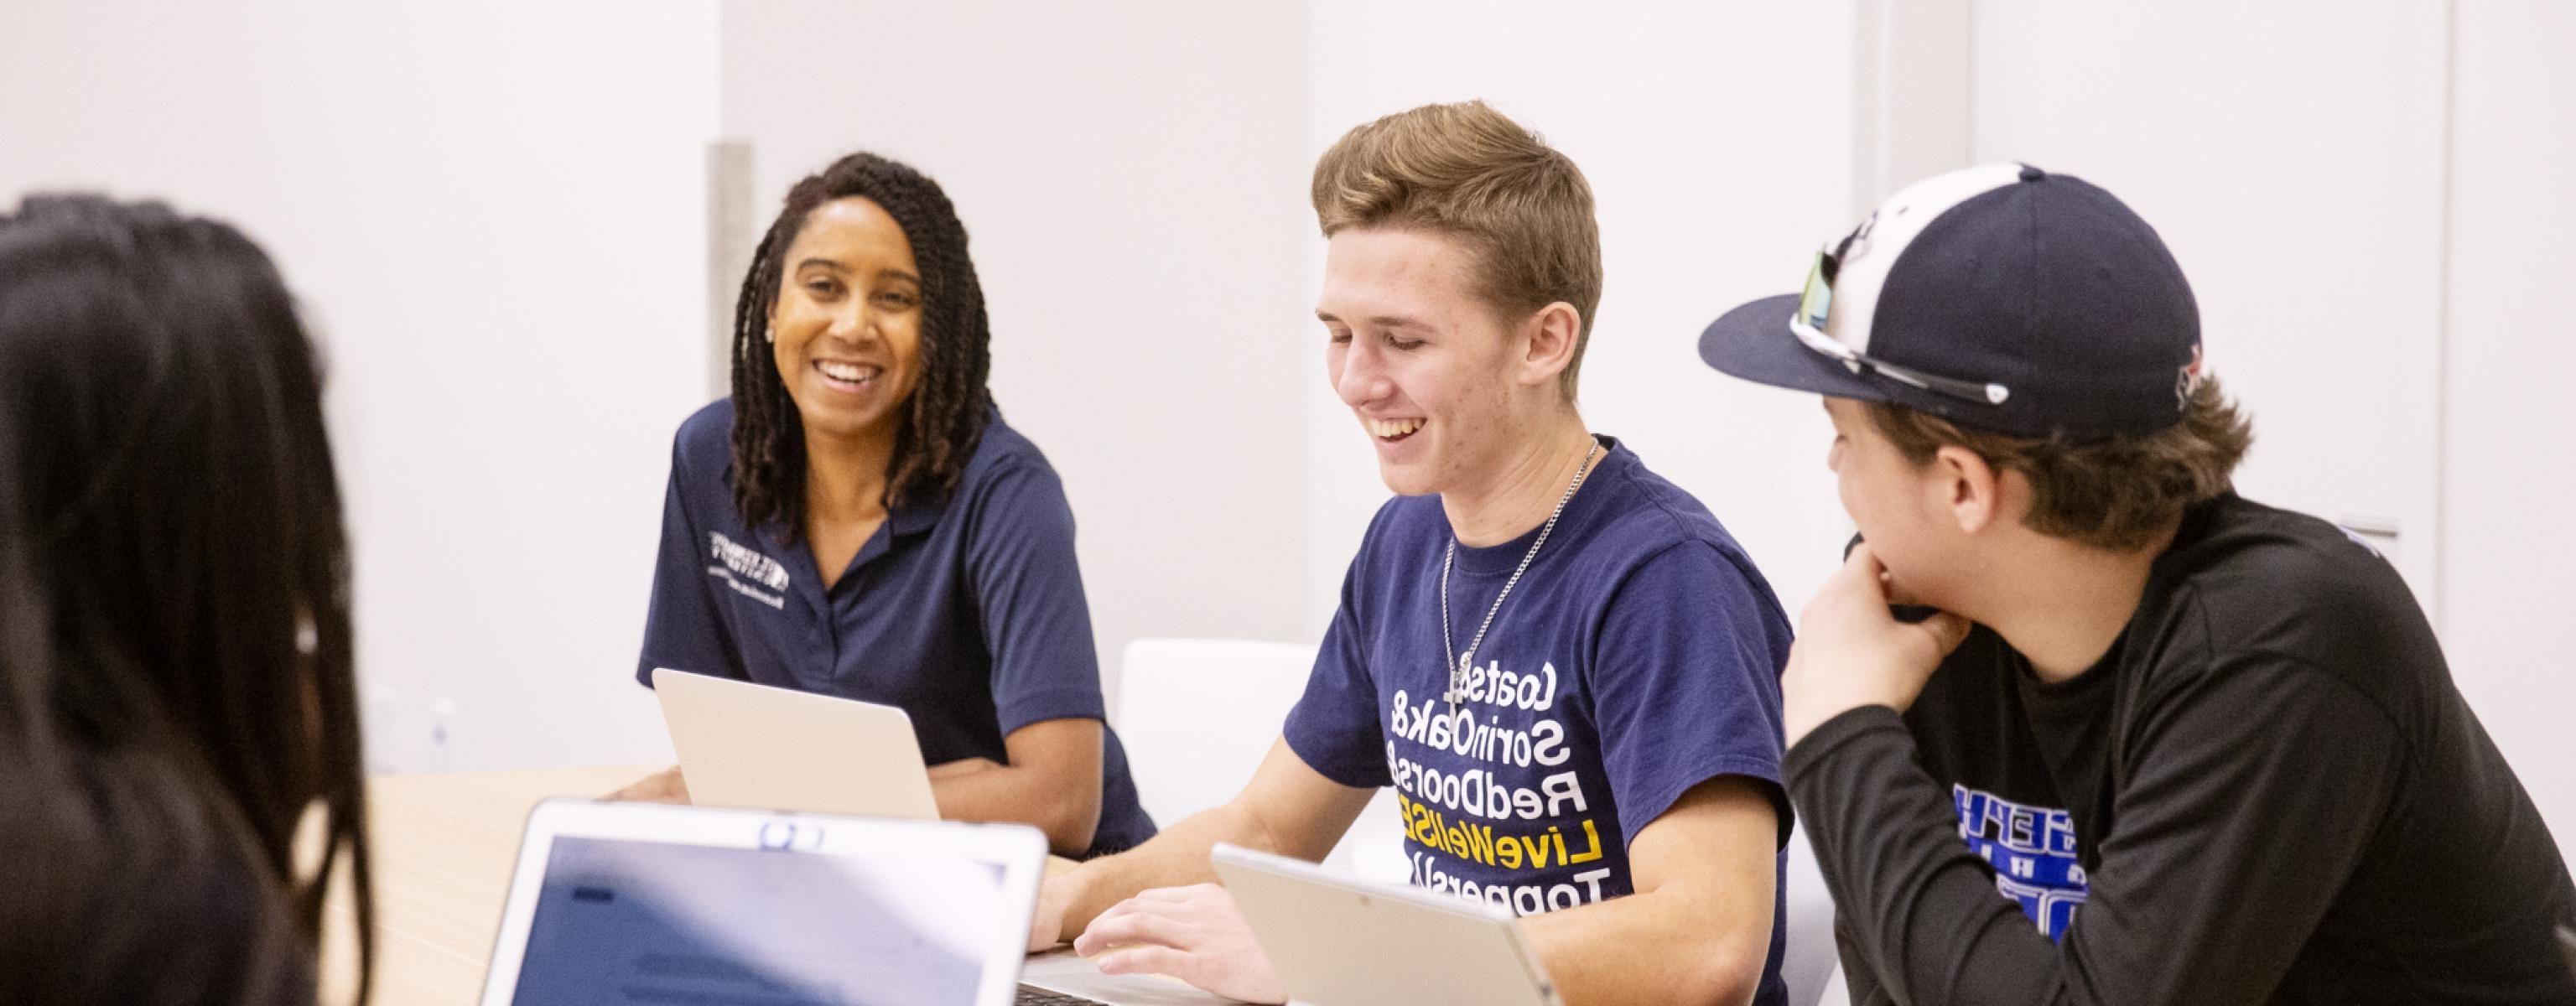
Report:
[[[1816,396],[1700,365],[1698,337],[1726,309],[1795,288],[1816,244],[1852,224],[1852,31],[1847,3],[1311,5],[1309,170],[1350,126],[1466,98],[1538,129],[1584,170],[1605,273],[1584,419],[1698,494],[1790,615],[1847,535],[1824,468],[1832,427]],[[1306,226],[1301,314],[1321,283],[1311,214]],[[1321,628],[1386,486],[1324,383],[1321,327],[1309,316],[1303,329],[1306,612]]]

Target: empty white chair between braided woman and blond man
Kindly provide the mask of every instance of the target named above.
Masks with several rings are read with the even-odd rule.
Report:
[[[1139,638],[1118,672],[1118,738],[1136,798],[1172,826],[1234,800],[1270,754],[1314,669],[1311,643],[1244,638]],[[1391,792],[1378,792],[1327,867],[1404,883],[1406,859]]]

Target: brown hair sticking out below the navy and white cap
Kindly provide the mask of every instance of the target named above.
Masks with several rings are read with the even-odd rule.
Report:
[[[1996,471],[2020,471],[2030,479],[2022,525],[2107,551],[2146,548],[2182,509],[2226,494],[2236,463],[2254,445],[2254,425],[2218,391],[2218,378],[2200,381],[2182,422],[2143,437],[2092,443],[1963,430],[1880,401],[1865,409],[1870,425],[1917,466],[1958,445]]]

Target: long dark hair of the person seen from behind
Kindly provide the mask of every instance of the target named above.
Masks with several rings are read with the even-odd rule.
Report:
[[[142,942],[142,975],[165,978],[137,998],[270,998],[281,983],[309,998],[327,877],[345,864],[363,996],[348,540],[319,363],[268,255],[160,203],[54,196],[0,216],[0,581],[28,599],[0,605],[0,628],[18,623],[0,636],[31,636],[0,651],[5,695],[28,702],[0,726],[49,767],[41,803],[0,826],[70,839],[49,849],[62,875],[124,895],[67,903],[54,926],[98,942],[39,962],[62,983],[26,983],[75,988],[70,970]],[[307,875],[294,844],[314,803],[325,846]],[[33,901],[10,913],[46,890],[28,880],[10,895]]]

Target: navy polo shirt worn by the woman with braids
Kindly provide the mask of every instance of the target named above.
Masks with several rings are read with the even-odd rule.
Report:
[[[732,430],[734,404],[716,401],[672,443],[639,682],[670,666],[896,705],[930,764],[1007,764],[1002,738],[1023,726],[1105,720],[1074,509],[999,412],[956,494],[896,504],[829,592],[801,535],[783,543],[742,525],[726,486]],[[1090,854],[1151,839],[1105,726],[1100,769]]]

